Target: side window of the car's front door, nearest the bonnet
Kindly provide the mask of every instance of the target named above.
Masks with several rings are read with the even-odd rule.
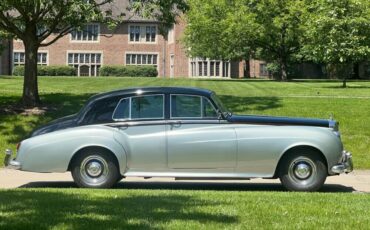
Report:
[[[205,97],[171,95],[171,117],[173,118],[217,118],[217,113]]]

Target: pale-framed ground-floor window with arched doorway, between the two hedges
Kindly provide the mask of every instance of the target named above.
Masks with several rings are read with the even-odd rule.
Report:
[[[99,76],[101,53],[68,53],[68,65],[77,70],[78,76]]]

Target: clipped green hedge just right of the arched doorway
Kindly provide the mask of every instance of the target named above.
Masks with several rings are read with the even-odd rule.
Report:
[[[157,68],[154,66],[102,66],[100,76],[115,77],[156,77]]]

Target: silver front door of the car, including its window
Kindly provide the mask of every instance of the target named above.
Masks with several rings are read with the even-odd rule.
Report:
[[[203,96],[170,95],[167,125],[168,167],[216,169],[236,167],[236,133],[219,120]]]

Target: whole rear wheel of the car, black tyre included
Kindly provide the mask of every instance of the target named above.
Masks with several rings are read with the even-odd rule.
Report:
[[[72,177],[79,187],[110,188],[120,177],[111,154],[102,150],[88,150],[72,162]]]

